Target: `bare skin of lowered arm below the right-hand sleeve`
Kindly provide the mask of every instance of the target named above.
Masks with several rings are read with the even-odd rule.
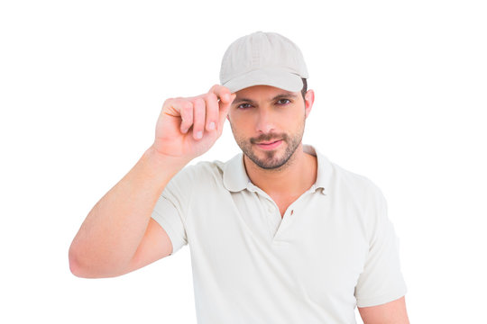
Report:
[[[359,307],[363,324],[409,324],[405,297],[377,306]]]

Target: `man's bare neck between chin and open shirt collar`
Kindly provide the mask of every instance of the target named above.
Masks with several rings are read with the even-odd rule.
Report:
[[[270,196],[299,196],[317,180],[317,157],[305,153],[302,144],[279,169],[263,169],[245,155],[243,162],[252,183]]]

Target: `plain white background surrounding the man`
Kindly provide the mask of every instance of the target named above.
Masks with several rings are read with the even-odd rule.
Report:
[[[164,100],[207,92],[253,31],[307,60],[304,142],[385,194],[411,323],[482,322],[486,16],[468,0],[3,1],[0,322],[196,323],[188,247],[111,279],[71,275],[68,250]],[[226,124],[198,160],[237,152]]]

